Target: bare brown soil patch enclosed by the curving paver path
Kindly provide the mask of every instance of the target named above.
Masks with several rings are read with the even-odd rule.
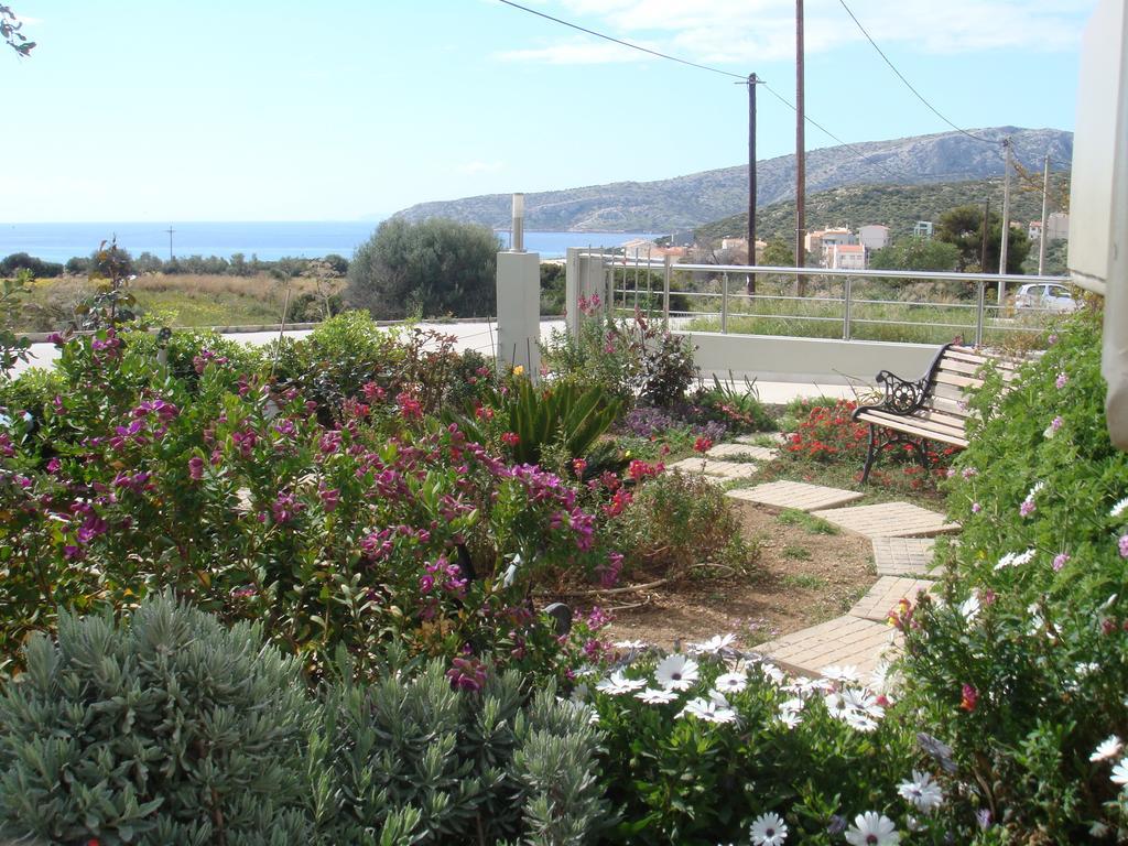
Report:
[[[732,633],[747,649],[845,614],[876,581],[867,538],[817,534],[752,503],[734,508],[759,547],[754,572],[616,594],[599,602],[614,610],[606,638],[670,649]]]

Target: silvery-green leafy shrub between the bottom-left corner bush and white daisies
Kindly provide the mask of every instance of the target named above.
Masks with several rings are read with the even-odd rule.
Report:
[[[589,714],[461,661],[411,668],[394,650],[380,681],[328,691],[310,765],[326,843],[374,844],[389,826],[409,843],[593,840],[606,808]]]

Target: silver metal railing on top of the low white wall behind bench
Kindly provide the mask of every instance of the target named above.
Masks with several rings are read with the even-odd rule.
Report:
[[[669,321],[688,323],[687,319],[713,319],[716,320],[721,333],[724,334],[748,334],[733,332],[734,318],[769,318],[787,321],[810,321],[813,324],[838,323],[841,325],[840,337],[845,341],[857,340],[858,331],[862,327],[879,326],[922,326],[937,329],[957,329],[973,332],[975,343],[982,344],[985,334],[989,329],[993,333],[1008,332],[1031,332],[1040,328],[1037,323],[1029,323],[1019,319],[1029,316],[1034,321],[1041,316],[1057,314],[1049,309],[1024,308],[1016,309],[1007,303],[1006,290],[1016,290],[1020,285],[1031,283],[1055,283],[1069,284],[1069,280],[1060,276],[1023,276],[1023,275],[999,275],[995,273],[951,273],[937,271],[893,271],[893,270],[831,270],[823,267],[767,267],[746,265],[716,265],[716,264],[672,264],[669,261],[658,262],[649,256],[635,255],[633,258],[623,255],[593,252],[591,257],[602,261],[605,268],[605,282],[607,297],[605,302],[614,311],[620,309],[634,310],[644,307],[642,310],[654,314],[655,298],[659,296],[656,276],[661,274],[661,315]],[[707,290],[690,290],[682,284],[677,288],[675,279],[689,281],[704,279],[704,288]],[[738,277],[744,282],[746,292],[738,292],[733,288],[732,280]],[[748,280],[756,283],[756,288],[765,287],[769,283],[776,288],[786,282],[791,282],[792,288],[799,290],[804,285],[811,290],[818,289],[818,296],[787,296],[782,293],[748,293]],[[890,298],[889,296],[858,296],[858,291],[865,288],[866,283],[884,283],[888,289],[904,291],[905,288],[914,283],[943,283],[957,288],[955,297],[948,301],[929,301],[926,299],[913,299],[911,297]],[[997,300],[996,292],[1003,292],[1003,303],[989,301],[988,285],[990,287],[990,299]],[[968,291],[968,287],[973,287]],[[873,288],[873,285],[871,285]],[[970,296],[969,296],[970,294]],[[685,298],[687,301],[696,303],[719,303],[719,307],[699,309],[671,309],[671,298]],[[786,311],[791,303],[791,311]],[[763,310],[761,307],[784,310]],[[876,307],[876,308],[875,308]],[[803,309],[831,309],[834,315],[802,314]],[[885,310],[902,309],[906,314],[914,309],[934,309],[934,314],[948,314],[950,316],[967,315],[968,321],[951,321],[954,317],[944,319],[932,319],[924,321],[911,321],[904,319],[888,319],[882,317],[865,316],[867,311],[876,311],[880,308]],[[755,333],[763,334],[763,333]],[[778,334],[778,333],[773,333]],[[801,333],[807,334],[807,333]],[[835,333],[838,335],[838,333]],[[819,334],[826,337],[825,334]]]

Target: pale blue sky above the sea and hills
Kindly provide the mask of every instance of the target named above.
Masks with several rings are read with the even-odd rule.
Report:
[[[747,160],[739,80],[499,0],[6,0],[0,223],[354,220]],[[1095,0],[846,0],[961,127],[1072,130]],[[523,0],[795,96],[793,0]],[[847,142],[950,127],[841,0],[807,0],[807,109]],[[760,159],[794,151],[761,87]],[[808,126],[807,147],[836,142]]]

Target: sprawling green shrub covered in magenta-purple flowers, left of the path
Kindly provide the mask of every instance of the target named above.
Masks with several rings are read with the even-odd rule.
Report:
[[[425,414],[422,382],[365,382],[326,421],[265,368],[201,355],[180,379],[146,352],[112,331],[67,343],[37,431],[3,428],[0,661],[58,607],[171,589],[315,673],[342,647],[363,673],[394,637],[555,671],[530,587],[611,552],[572,484]]]

